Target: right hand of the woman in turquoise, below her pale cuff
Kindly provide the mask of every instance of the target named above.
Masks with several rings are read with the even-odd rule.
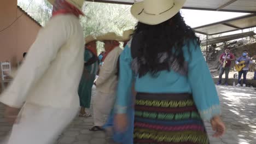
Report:
[[[225,124],[222,122],[222,119],[220,119],[219,116],[215,116],[211,119],[211,125],[212,125],[212,130],[216,131],[213,137],[223,136],[226,128],[225,128]]]

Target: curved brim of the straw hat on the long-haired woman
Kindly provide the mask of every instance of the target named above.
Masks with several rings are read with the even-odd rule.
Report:
[[[179,10],[183,7],[186,0],[174,0],[174,7],[165,13],[159,14],[159,15],[149,15],[146,13],[143,13],[142,10],[144,9],[143,2],[137,2],[132,5],[131,7],[131,14],[142,23],[145,23],[147,25],[158,25],[159,23],[165,22],[168,19],[171,19],[174,15],[176,15]],[[142,12],[142,13],[141,13]],[[141,14],[139,14],[141,13]]]

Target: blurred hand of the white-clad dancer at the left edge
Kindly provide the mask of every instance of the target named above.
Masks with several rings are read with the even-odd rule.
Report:
[[[15,107],[6,106],[4,111],[4,117],[6,121],[10,124],[14,124],[16,122],[16,118],[18,117],[20,109]]]

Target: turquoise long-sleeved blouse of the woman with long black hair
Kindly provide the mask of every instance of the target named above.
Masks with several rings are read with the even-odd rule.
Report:
[[[145,93],[191,93],[203,119],[211,119],[220,114],[219,97],[210,70],[202,55],[200,46],[189,42],[183,46],[185,61],[188,62],[188,75],[163,70],[158,77],[146,74],[134,75],[131,70],[131,40],[120,55],[120,71],[117,93],[117,113],[126,113],[131,84],[135,81],[135,90]],[[133,78],[135,77],[135,78]]]

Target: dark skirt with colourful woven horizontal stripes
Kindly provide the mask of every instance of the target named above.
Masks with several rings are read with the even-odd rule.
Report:
[[[137,93],[134,143],[208,144],[190,94]]]

